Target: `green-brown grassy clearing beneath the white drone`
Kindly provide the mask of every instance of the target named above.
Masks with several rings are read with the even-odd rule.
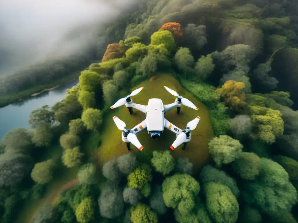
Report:
[[[180,114],[176,113],[176,108],[165,114],[165,118],[181,129],[186,128],[186,124],[195,117],[200,116],[201,120],[197,128],[191,131],[191,141],[187,144],[186,150],[182,151],[180,145],[173,151],[174,157],[187,157],[194,165],[194,171],[197,172],[203,165],[209,161],[208,143],[213,136],[212,127],[209,120],[208,110],[204,104],[198,101],[191,93],[187,92],[180,83],[169,74],[157,74],[153,81],[143,81],[138,87],[143,86],[144,89],[136,96],[132,97],[135,103],[147,105],[150,98],[160,98],[163,104],[173,103],[175,96],[171,95],[164,89],[164,85],[177,91],[184,98],[188,98],[196,106],[198,111],[186,106],[181,107]],[[124,96],[124,95],[123,95]],[[125,143],[121,139],[121,131],[115,125],[112,117],[116,115],[126,123],[126,127],[132,129],[145,119],[145,114],[134,109],[134,114],[130,115],[125,106],[111,110],[105,115],[105,122],[102,126],[104,131],[101,133],[101,145],[96,151],[101,164],[108,161],[112,156],[121,156],[128,153]],[[174,133],[165,129],[159,139],[152,139],[146,130],[137,134],[137,137],[144,147],[144,150],[165,150],[169,148],[176,136]],[[136,153],[141,153],[134,145],[131,148]],[[143,152],[142,151],[142,152]]]

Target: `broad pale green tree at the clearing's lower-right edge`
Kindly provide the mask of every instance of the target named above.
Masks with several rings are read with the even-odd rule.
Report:
[[[218,166],[234,161],[242,148],[243,145],[238,140],[227,135],[215,137],[209,142],[209,153]]]

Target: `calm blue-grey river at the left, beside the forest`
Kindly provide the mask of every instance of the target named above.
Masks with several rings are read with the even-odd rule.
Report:
[[[44,105],[52,106],[61,101],[66,95],[66,90],[77,83],[78,80],[70,81],[51,91],[45,91],[34,97],[0,108],[0,140],[9,130],[18,127],[29,128],[28,120],[32,110],[41,108]]]

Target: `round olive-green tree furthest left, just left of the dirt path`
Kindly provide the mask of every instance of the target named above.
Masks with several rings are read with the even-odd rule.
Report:
[[[52,142],[53,134],[50,126],[46,123],[41,123],[33,129],[32,142],[36,146],[49,146]]]

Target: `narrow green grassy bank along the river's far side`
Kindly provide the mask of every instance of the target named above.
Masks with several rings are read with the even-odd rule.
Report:
[[[70,81],[73,81],[73,80],[79,78],[79,76],[80,76],[80,71],[76,71],[76,72],[73,72],[61,79],[52,81],[49,84],[38,85],[38,86],[29,88],[29,89],[21,91],[21,92],[11,94],[11,95],[0,96],[0,108],[7,106],[9,104],[12,104],[16,101],[24,100],[26,98],[39,95],[42,92],[55,89],[65,83],[68,83]]]

